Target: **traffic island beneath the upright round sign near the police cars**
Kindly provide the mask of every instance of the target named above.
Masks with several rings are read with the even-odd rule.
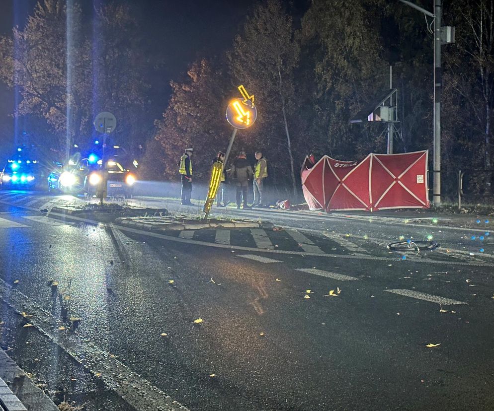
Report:
[[[70,205],[53,207],[50,211],[50,215],[59,216],[67,215],[78,218],[87,218],[91,220],[97,220],[99,222],[110,223],[118,218],[128,217],[147,217],[155,216],[160,217],[166,215],[168,210],[166,208],[151,208],[151,207],[137,207],[137,206],[122,206],[120,204],[85,204],[85,205]]]

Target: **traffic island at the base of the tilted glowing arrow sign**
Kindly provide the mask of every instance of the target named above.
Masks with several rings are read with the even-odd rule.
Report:
[[[147,231],[200,230],[203,228],[273,228],[273,224],[269,221],[229,217],[207,219],[192,216],[126,217],[116,218],[115,223]]]

